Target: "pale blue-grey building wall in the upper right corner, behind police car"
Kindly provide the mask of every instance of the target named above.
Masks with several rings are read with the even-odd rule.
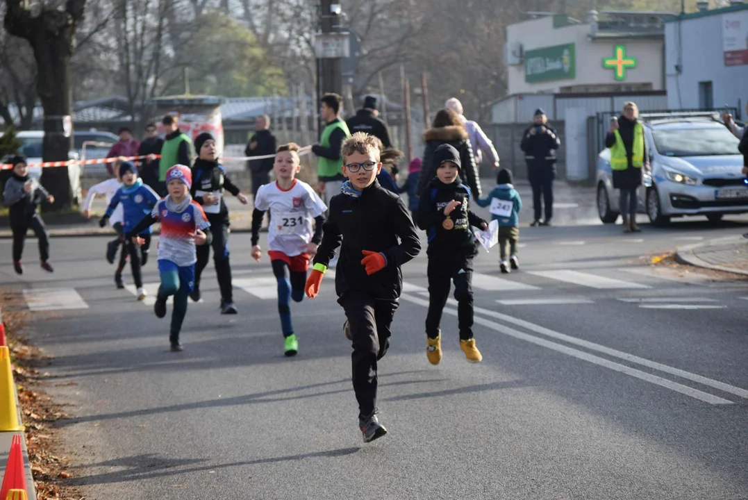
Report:
[[[748,10],[733,11],[732,14],[740,16],[741,22],[748,23]],[[723,15],[715,13],[665,23],[669,108],[699,108],[699,81],[712,82],[716,108],[726,104],[737,106],[738,99],[745,105],[748,99],[748,65],[725,66],[722,22]],[[675,71],[678,55],[682,58],[680,75]]]

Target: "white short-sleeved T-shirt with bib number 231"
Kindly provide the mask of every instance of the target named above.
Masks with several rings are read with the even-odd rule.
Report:
[[[287,256],[304,253],[312,241],[312,221],[327,210],[327,206],[306,182],[294,179],[286,191],[278,182],[260,186],[254,208],[270,211],[268,250],[283,252]]]

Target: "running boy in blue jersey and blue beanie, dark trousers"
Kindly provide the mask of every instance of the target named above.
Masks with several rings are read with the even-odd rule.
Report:
[[[135,169],[135,164],[132,161],[123,161],[120,164],[120,179],[122,179],[122,187],[117,190],[114,197],[111,199],[108,208],[104,214],[104,217],[99,220],[99,226],[106,226],[111,214],[114,214],[114,209],[117,205],[122,203],[123,208],[123,228],[122,232],[125,235],[125,242],[127,244],[127,252],[130,255],[130,268],[132,269],[132,280],[135,281],[135,287],[138,288],[138,300],[144,300],[147,297],[147,292],[143,288],[143,278],[141,276],[141,265],[145,265],[148,259],[148,248],[150,247],[150,226],[147,229],[137,235],[143,239],[141,246],[141,257],[138,258],[138,250],[135,244],[132,242],[132,229],[135,228],[143,217],[150,214],[153,206],[159,201],[159,195],[156,191],[150,188],[150,186],[143,184],[143,180],[138,178],[138,170]]]

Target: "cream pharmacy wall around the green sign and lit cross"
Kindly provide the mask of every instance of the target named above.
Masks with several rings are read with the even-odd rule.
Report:
[[[509,94],[557,93],[560,87],[571,85],[652,83],[652,90],[664,90],[663,40],[601,39],[589,40],[590,25],[580,24],[553,27],[551,16],[509,25],[507,41],[522,43],[524,51],[574,43],[576,78],[527,83],[524,81],[524,63],[507,67]],[[721,43],[721,37],[720,37]],[[625,81],[616,81],[613,70],[603,67],[604,58],[613,57],[613,49],[621,44],[626,56],[637,59],[637,67],[626,70]]]

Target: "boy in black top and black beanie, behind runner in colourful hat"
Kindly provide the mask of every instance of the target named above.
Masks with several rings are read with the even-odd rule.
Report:
[[[203,207],[213,233],[212,243],[197,247],[197,264],[194,266],[194,287],[190,292],[192,300],[200,300],[200,276],[208,265],[210,247],[213,247],[215,274],[221,288],[221,314],[236,314],[231,286],[231,265],[229,263],[229,210],[224,201],[224,189],[233,194],[243,205],[247,197],[228,178],[223,165],[218,164],[218,149],[215,139],[207,132],[194,138],[194,150],[198,158],[192,167],[193,200]]]

